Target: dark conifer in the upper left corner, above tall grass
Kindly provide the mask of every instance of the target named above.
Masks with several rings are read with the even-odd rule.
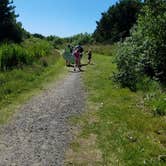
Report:
[[[16,21],[13,1],[0,0],[0,42],[22,40],[23,30],[21,23]]]

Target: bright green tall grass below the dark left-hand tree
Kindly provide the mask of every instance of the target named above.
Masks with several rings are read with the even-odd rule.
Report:
[[[5,71],[32,64],[49,55],[51,50],[53,46],[49,42],[36,38],[27,39],[21,45],[3,44],[0,46],[0,69]]]

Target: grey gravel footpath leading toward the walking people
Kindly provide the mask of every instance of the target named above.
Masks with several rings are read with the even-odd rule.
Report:
[[[71,141],[70,116],[84,110],[80,73],[69,75],[24,104],[0,128],[0,166],[61,166]]]

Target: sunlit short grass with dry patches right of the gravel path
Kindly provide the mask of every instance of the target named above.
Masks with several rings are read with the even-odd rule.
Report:
[[[111,80],[111,56],[95,54],[84,73],[87,112],[72,118],[75,140],[66,165],[163,166],[166,117],[154,116],[145,92],[131,92]]]

